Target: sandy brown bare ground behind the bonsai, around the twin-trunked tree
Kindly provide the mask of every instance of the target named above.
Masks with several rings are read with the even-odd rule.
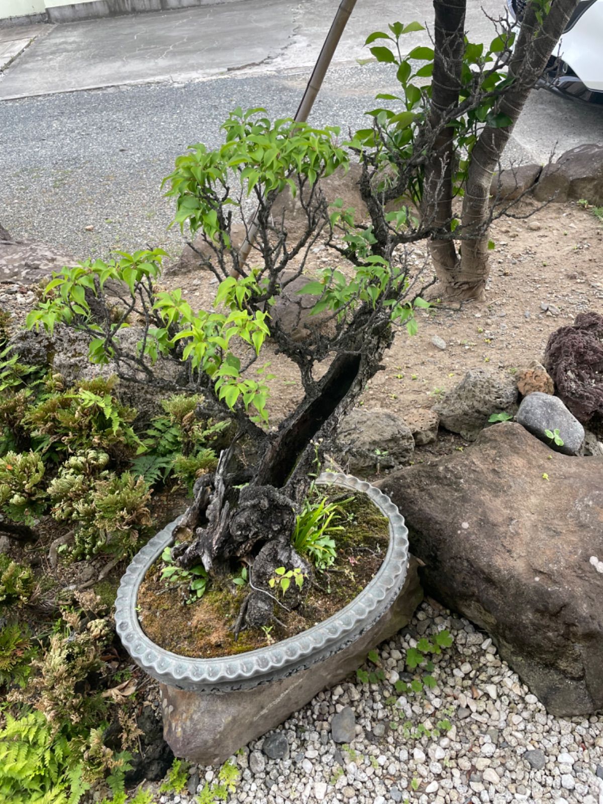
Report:
[[[499,219],[491,229],[496,245],[486,301],[417,310],[418,334],[410,337],[401,330],[396,335],[363,404],[402,417],[431,408],[470,368],[508,371],[541,360],[553,330],[572,323],[580,312],[603,310],[603,226],[597,218],[576,203],[539,208],[532,199],[523,200],[513,214],[517,217]],[[424,262],[425,244],[412,248],[411,259]],[[340,262],[334,252],[317,246],[306,273]],[[181,287],[193,307],[211,304],[216,287],[204,271],[172,271],[166,282]],[[433,344],[434,336],[444,339],[445,349]],[[262,354],[277,375],[268,404],[271,420],[277,421],[293,409],[301,385],[297,368],[274,355],[270,344]]]

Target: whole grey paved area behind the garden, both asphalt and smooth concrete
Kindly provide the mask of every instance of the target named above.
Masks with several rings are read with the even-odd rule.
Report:
[[[251,7],[255,23],[243,35],[232,27],[233,13]],[[177,253],[183,238],[176,229],[167,230],[172,207],[162,198],[162,178],[187,145],[220,142],[219,125],[229,109],[261,105],[274,116],[294,112],[306,65],[313,63],[330,23],[324,7],[323,0],[301,0],[297,6],[247,0],[45,28],[0,80],[0,97],[19,94],[14,92],[19,87],[34,93],[0,101],[2,224],[14,236],[43,240],[80,258],[147,244]],[[472,39],[488,39],[490,21],[477,3],[472,9]],[[487,0],[486,10],[497,9],[498,2]],[[313,123],[359,127],[375,92],[395,88],[391,68],[361,67],[355,58],[362,55],[367,32],[395,19],[396,10],[400,3],[392,0],[359,2],[318,96]],[[420,0],[405,6],[404,21],[429,14],[429,0]],[[174,27],[188,31],[180,45]],[[131,48],[133,36],[137,44]],[[416,37],[412,45],[425,34]],[[193,62],[199,66],[193,58],[199,42],[207,47],[201,69],[191,72]],[[165,59],[158,58],[162,53]],[[104,88],[79,89],[92,85]],[[40,87],[46,94],[35,94]],[[560,153],[601,140],[603,107],[535,92],[506,156],[544,162],[554,148]],[[89,226],[92,232],[86,231]]]

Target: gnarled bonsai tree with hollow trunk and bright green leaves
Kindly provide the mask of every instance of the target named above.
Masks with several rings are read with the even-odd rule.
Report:
[[[180,290],[162,289],[160,249],[121,252],[114,260],[62,269],[28,326],[76,327],[90,338],[90,359],[113,361],[121,379],[153,384],[158,391],[201,392],[205,408],[199,415],[209,410],[235,420],[237,435],[217,470],[195,486],[172,558],[184,568],[201,563],[210,575],[247,562],[252,592],[240,626],[257,626],[272,618],[269,580],[277,568],[311,573],[291,536],[317,460],[379,370],[396,327],[414,331],[413,310],[427,302],[404,251],[386,246],[385,256],[375,254],[370,229],[356,227],[351,211],[338,204],[330,214],[320,179],[345,170],[350,158],[338,129],[272,123],[263,109],[236,109],[223,129],[224,146],[192,147],[166,179],[176,201],[175,221],[199,235],[203,248],[194,248],[200,264],[219,280],[214,309],[193,310]],[[274,213],[287,187],[304,218],[295,235],[284,215]],[[242,265],[232,248],[232,228],[250,199],[257,205],[258,237]],[[406,215],[385,214],[392,236]],[[321,237],[352,253],[356,265],[307,276],[310,249]],[[307,315],[306,338],[292,332],[281,303]],[[262,359],[267,338],[297,366],[304,391],[277,429],[268,424],[271,375]],[[174,361],[178,372],[166,379],[158,368]],[[320,363],[328,367],[317,376]],[[252,442],[260,456],[255,465],[237,461],[241,440]]]

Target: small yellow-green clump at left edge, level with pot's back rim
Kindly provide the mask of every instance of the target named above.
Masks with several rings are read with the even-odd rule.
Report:
[[[41,457],[28,453],[6,453],[0,457],[0,508],[14,522],[31,525],[47,503]]]

